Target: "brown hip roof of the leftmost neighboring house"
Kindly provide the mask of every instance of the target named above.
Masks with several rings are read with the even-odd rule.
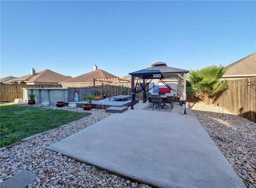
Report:
[[[9,80],[10,82],[18,82],[18,81],[24,81],[24,82],[40,82],[40,83],[58,83],[62,80],[67,80],[69,78],[72,78],[71,76],[64,76],[62,74],[59,74],[57,72],[51,71],[51,70],[44,70],[40,72],[36,72],[35,75],[28,74],[26,76],[21,76],[18,78],[14,78]]]

